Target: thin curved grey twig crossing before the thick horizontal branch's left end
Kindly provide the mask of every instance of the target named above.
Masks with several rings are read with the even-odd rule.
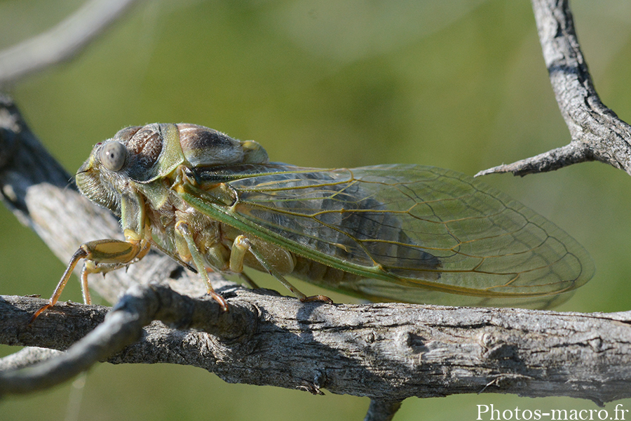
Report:
[[[4,309],[4,313],[10,311]],[[252,321],[248,323],[247,319]],[[116,307],[104,316],[102,323],[101,320],[97,317],[100,324],[64,354],[36,366],[0,373],[0,394],[25,394],[65,382],[138,340],[142,328],[154,320],[179,328],[201,328],[228,341],[256,326],[252,312],[242,307],[232,306],[231,312],[224,313],[215,301],[193,300],[152,283],[130,288]],[[34,324],[37,323],[36,320]],[[46,321],[44,323],[48,325]],[[29,329],[38,330],[37,326],[27,326],[24,320],[13,326],[20,325],[22,328],[18,330],[22,335],[28,335]],[[66,325],[72,326],[70,323]],[[30,335],[30,338],[34,337],[36,335]]]

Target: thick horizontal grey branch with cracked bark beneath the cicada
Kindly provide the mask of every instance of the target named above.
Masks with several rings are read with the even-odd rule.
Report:
[[[155,317],[177,321],[179,329],[151,323],[140,341],[108,361],[186,364],[212,371],[226,382],[369,396],[381,401],[374,404],[377,407],[409,396],[480,392],[573,396],[599,404],[631,396],[629,313],[401,303],[305,305],[245,288],[224,295],[228,313],[220,312],[212,300],[191,299],[151,284],[135,288],[114,307],[113,314],[125,314],[124,323],[100,324],[105,307],[65,305],[30,327],[27,320],[43,301],[4,296],[0,342],[57,342],[55,347],[66,349],[97,328],[74,345],[73,359],[79,363],[71,368],[76,372],[85,368],[83,361],[97,359],[101,351],[95,353],[93,344],[120,345],[112,332],[137,329]],[[62,323],[63,332],[54,328]],[[64,358],[43,366],[56,367]],[[0,384],[13,376],[0,377]]]

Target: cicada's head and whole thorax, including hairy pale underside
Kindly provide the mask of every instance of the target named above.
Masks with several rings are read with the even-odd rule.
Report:
[[[76,175],[80,191],[121,217],[135,237],[150,239],[182,262],[188,246],[175,225],[185,222],[202,253],[226,260],[218,222],[193,210],[174,186],[196,183],[194,173],[243,163],[267,163],[257,142],[240,141],[194,124],[153,123],[118,131],[93,148]],[[219,269],[223,269],[219,267]]]

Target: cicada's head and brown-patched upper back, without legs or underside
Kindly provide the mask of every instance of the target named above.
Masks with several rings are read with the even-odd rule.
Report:
[[[241,142],[194,124],[133,126],[97,143],[76,174],[76,185],[91,201],[121,214],[121,195],[134,183],[168,178],[180,165],[212,168],[239,163],[267,163],[257,142]],[[136,184],[137,186],[137,184]]]

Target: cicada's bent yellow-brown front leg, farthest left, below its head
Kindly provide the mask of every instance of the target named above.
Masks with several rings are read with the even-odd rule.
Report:
[[[135,239],[135,235],[128,232],[125,232],[125,234],[125,236],[128,237],[127,241],[103,239],[82,244],[74,255],[72,255],[68,267],[66,267],[59,283],[57,283],[57,288],[55,288],[53,295],[48,299],[48,304],[37,310],[31,317],[29,323],[32,323],[42,312],[45,312],[57,303],[62,290],[64,290],[68,279],[70,279],[74,268],[80,260],[86,260],[86,263],[83,265],[83,270],[81,271],[81,293],[83,294],[83,302],[85,304],[91,304],[90,290],[88,289],[88,274],[109,272],[144,257],[150,248],[148,241]]]

